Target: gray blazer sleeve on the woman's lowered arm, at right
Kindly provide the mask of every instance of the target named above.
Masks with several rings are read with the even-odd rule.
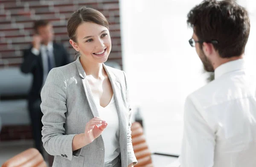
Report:
[[[129,123],[128,123],[128,130],[127,130],[127,158],[128,158],[128,165],[129,164],[137,164],[137,159],[135,157],[134,154],[134,150],[132,147],[132,142],[131,142],[131,115],[132,115],[132,110],[131,110],[131,104],[130,104],[130,97],[129,97],[129,92],[128,92],[128,84],[126,81],[126,75],[124,72],[124,76],[125,76],[125,86],[126,86],[126,103],[128,106],[128,112],[129,112]]]

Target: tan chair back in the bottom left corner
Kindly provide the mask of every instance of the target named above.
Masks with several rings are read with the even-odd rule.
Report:
[[[38,150],[30,148],[7,160],[2,167],[47,167],[47,164]]]

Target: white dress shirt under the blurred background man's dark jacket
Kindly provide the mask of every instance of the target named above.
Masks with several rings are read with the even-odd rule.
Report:
[[[53,43],[49,42],[48,45],[41,45],[40,51],[38,49],[32,48],[31,52],[34,55],[39,55],[41,52],[41,57],[42,57],[42,62],[43,62],[43,70],[44,70],[44,78],[43,78],[43,86],[46,81],[47,75],[48,75],[48,61],[47,61],[47,50],[49,51],[49,56],[51,58],[53,67],[55,66],[55,59],[54,59],[54,54],[53,54]]]

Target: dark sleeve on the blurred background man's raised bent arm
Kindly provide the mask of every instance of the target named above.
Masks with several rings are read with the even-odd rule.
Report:
[[[39,56],[33,54],[32,49],[26,49],[23,51],[23,63],[20,65],[20,70],[23,73],[30,73],[38,64]]]

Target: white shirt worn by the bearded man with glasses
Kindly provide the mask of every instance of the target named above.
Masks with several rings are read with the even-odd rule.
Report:
[[[188,96],[181,167],[256,167],[255,81],[244,60],[234,60]]]

